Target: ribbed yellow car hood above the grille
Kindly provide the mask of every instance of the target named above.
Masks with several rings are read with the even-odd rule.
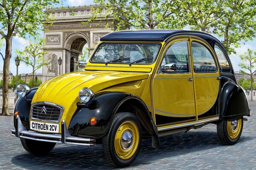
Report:
[[[147,78],[148,74],[145,73],[119,71],[81,71],[63,74],[44,82],[36,91],[32,103],[47,101],[65,107],[72,102],[80,102],[78,94],[81,88],[87,87],[97,93],[113,85]]]

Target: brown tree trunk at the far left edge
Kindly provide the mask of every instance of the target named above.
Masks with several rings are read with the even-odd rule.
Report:
[[[6,38],[6,51],[5,58],[3,61],[3,116],[10,116],[9,113],[9,68],[10,59],[12,57],[12,36]]]

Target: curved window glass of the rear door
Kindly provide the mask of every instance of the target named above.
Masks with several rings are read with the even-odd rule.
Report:
[[[214,58],[208,48],[198,42],[192,42],[193,67],[195,73],[215,72],[217,70]]]

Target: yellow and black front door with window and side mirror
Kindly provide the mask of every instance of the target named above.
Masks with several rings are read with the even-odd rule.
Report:
[[[195,96],[188,38],[170,42],[161,58],[152,84],[156,125],[195,121]]]

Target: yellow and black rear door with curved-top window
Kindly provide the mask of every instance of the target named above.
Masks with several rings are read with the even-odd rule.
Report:
[[[191,39],[198,120],[218,116],[220,76],[216,57],[203,41]]]

